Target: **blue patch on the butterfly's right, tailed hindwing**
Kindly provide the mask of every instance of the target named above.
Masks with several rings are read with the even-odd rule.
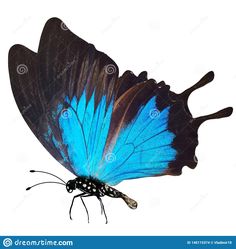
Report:
[[[174,133],[168,131],[170,107],[161,112],[156,97],[138,112],[133,122],[119,134],[112,153],[112,162],[106,155],[98,171],[98,179],[111,185],[127,179],[161,175],[175,160],[176,150],[171,144]]]

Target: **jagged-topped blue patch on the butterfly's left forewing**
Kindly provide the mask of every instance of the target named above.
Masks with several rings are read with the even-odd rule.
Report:
[[[73,97],[70,101],[65,97],[64,103],[58,104],[57,113],[51,114],[58,118],[62,141],[56,140],[50,126],[44,134],[46,139],[52,136],[55,147],[63,159],[70,162],[75,174],[87,177],[94,176],[102,158],[113,107],[113,101],[106,107],[106,97],[103,96],[95,110],[94,96],[95,93],[87,105],[85,91],[79,100]],[[65,105],[68,107],[64,108]],[[61,143],[66,146],[68,157],[61,149]]]

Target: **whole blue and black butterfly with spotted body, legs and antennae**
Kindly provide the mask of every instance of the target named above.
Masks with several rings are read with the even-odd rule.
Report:
[[[181,94],[170,91],[142,72],[119,77],[116,63],[65,24],[50,19],[38,52],[14,45],[9,52],[12,91],[26,123],[49,151],[76,178],[65,182],[83,197],[122,198],[132,209],[137,202],[111,187],[123,180],[180,175],[195,168],[199,126],[208,119],[230,116],[232,108],[193,118],[188,97],[213,80],[207,73]],[[37,186],[39,184],[35,184]],[[33,186],[32,186],[33,187]],[[31,187],[27,188],[30,189]],[[106,217],[107,222],[107,217]]]

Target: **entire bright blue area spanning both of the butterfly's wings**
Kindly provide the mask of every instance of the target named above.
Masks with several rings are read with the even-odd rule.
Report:
[[[168,130],[170,107],[159,111],[157,97],[152,97],[105,149],[113,101],[106,109],[103,96],[95,110],[95,94],[87,105],[85,96],[84,91],[79,100],[73,97],[71,102],[66,97],[69,107],[63,109],[62,104],[57,107],[68,158],[60,149],[60,143],[53,139],[77,175],[115,185],[126,179],[161,175],[168,168],[176,156],[176,150],[171,147],[175,135]]]

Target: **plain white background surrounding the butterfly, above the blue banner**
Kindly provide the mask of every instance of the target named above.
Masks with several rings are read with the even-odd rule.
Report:
[[[235,106],[236,15],[234,1],[5,1],[1,5],[0,234],[4,235],[235,235],[236,116],[206,122],[199,130],[199,164],[179,177],[122,182],[117,189],[138,201],[104,198],[109,218],[95,198],[86,199],[91,223],[79,200],[63,186],[25,188],[46,175],[74,176],[41,146],[15,104],[8,76],[9,48],[20,43],[37,51],[47,19],[59,17],[78,36],[104,51],[120,73],[142,70],[181,92],[210,70],[215,80],[189,101],[194,116]]]

